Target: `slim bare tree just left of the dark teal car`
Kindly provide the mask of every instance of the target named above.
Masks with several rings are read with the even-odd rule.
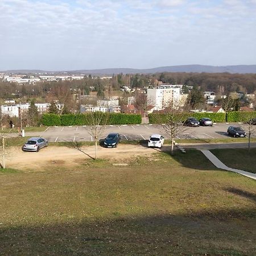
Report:
[[[85,129],[92,136],[95,142],[95,156],[94,159],[97,159],[97,146],[98,139],[106,130],[106,124],[109,121],[109,113],[104,112],[88,112],[85,114],[86,123],[88,126]]]

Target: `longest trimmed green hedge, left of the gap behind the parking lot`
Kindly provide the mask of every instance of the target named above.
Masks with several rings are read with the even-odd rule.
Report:
[[[68,125],[90,125],[88,115],[97,115],[97,112],[90,114],[43,114],[42,124],[46,126],[68,126]],[[102,113],[101,113],[102,114]],[[107,114],[105,114],[107,115]],[[135,125],[142,121],[139,114],[108,113],[106,125]],[[103,123],[102,123],[103,124]]]

